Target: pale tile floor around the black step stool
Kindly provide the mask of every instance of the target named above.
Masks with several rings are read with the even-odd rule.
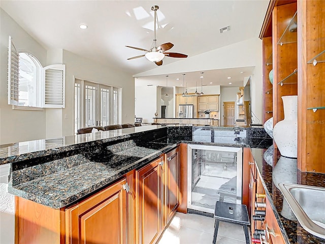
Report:
[[[213,218],[177,212],[157,244],[212,244],[213,231]],[[228,243],[246,243],[243,227],[220,222],[217,244]]]

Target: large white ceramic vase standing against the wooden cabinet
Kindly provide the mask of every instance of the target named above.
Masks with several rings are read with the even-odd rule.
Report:
[[[298,96],[284,96],[282,101],[284,119],[274,126],[273,139],[282,156],[297,158]]]

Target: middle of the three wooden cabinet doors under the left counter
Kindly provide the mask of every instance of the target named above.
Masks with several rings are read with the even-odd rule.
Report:
[[[155,243],[162,232],[164,166],[161,156],[137,171],[136,227],[141,244]]]

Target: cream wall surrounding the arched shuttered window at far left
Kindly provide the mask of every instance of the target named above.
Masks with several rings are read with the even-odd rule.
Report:
[[[45,138],[45,110],[13,110],[8,105],[8,36],[16,48],[31,53],[46,66],[46,49],[0,9],[0,144]],[[14,122],[14,123],[13,123]]]

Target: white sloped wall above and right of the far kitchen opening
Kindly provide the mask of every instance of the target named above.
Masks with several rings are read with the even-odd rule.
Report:
[[[255,67],[253,74],[251,75],[251,109],[252,112],[260,120],[262,120],[262,40],[260,40],[257,36],[256,38],[248,39],[229,46],[224,46],[196,56],[187,57],[186,59],[182,59],[178,62],[160,66],[134,76],[163,75],[193,71],[200,72],[203,70],[240,68],[249,66]],[[203,93],[211,94],[208,90],[209,88],[210,86],[203,87]]]

